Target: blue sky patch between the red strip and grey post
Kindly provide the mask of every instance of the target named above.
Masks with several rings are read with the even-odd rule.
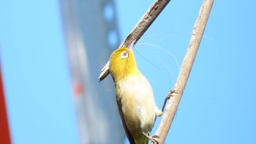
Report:
[[[0,3],[1,68],[12,143],[78,143],[59,2]]]

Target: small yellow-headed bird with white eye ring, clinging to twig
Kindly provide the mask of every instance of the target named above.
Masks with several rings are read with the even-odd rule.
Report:
[[[105,67],[115,82],[118,110],[129,143],[145,144],[152,138],[151,129],[162,110],[154,101],[151,85],[137,67],[132,52],[134,44],[135,41],[128,48],[115,50]]]

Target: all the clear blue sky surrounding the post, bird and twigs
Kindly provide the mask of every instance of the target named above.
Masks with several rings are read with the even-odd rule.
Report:
[[[121,39],[152,3],[116,1]],[[175,85],[202,3],[170,1],[135,46],[138,67],[151,83],[158,107]],[[214,2],[165,143],[256,143],[255,3]],[[0,1],[0,21],[12,141],[78,143],[58,1]]]

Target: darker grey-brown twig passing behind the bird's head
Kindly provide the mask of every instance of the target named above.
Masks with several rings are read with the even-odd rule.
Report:
[[[127,38],[124,39],[124,42],[121,43],[119,48],[127,47],[132,41],[135,40],[138,42],[140,37],[146,32],[146,30],[151,26],[151,24],[156,20],[157,16],[165,9],[165,6],[170,2],[170,0],[157,0],[154,1],[154,4],[149,7],[147,12],[140,18],[139,22],[136,24],[134,29],[128,34]],[[109,74],[109,67],[106,64],[103,67],[101,74],[99,75],[99,81],[103,80]]]

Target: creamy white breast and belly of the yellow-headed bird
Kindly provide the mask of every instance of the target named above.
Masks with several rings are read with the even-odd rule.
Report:
[[[117,99],[129,131],[150,132],[155,121],[153,91],[143,75],[118,83]]]

